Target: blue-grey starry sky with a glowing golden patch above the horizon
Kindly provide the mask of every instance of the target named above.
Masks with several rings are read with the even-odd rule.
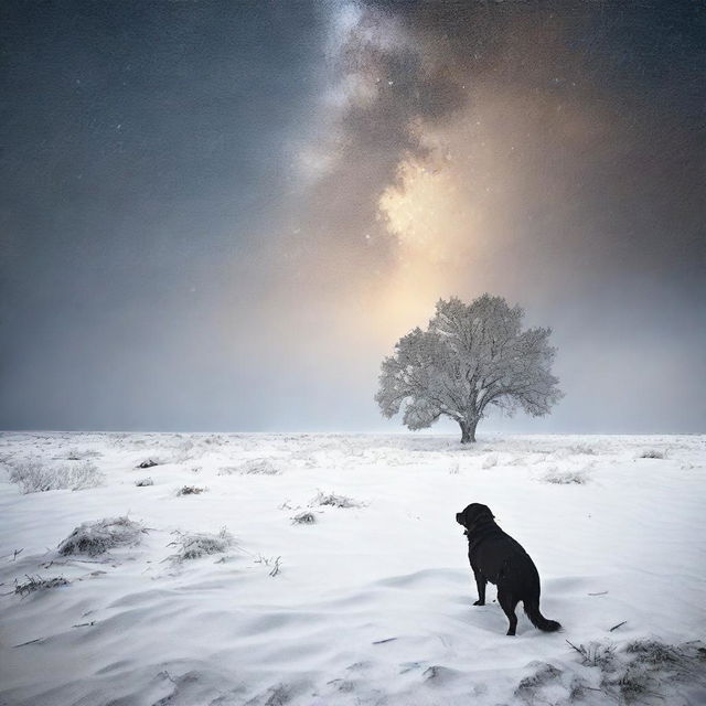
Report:
[[[397,430],[490,291],[566,397],[481,435],[706,431],[702,2],[6,0],[0,58],[1,428]]]

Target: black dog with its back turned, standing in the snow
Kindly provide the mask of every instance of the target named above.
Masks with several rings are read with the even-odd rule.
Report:
[[[498,602],[510,620],[509,635],[515,634],[517,617],[515,607],[523,602],[532,624],[539,630],[554,632],[561,625],[547,620],[539,612],[539,574],[530,555],[494,521],[486,505],[471,503],[456,515],[466,527],[468,558],[478,586],[478,600],[473,606],[485,605],[485,584],[498,586]]]

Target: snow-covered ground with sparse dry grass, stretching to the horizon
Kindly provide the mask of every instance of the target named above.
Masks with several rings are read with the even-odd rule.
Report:
[[[706,703],[704,436],[6,432],[0,462],[2,705]],[[13,471],[103,479],[22,494]],[[471,606],[470,502],[563,631],[520,609],[506,637],[493,587]],[[124,515],[139,544],[58,553]],[[176,531],[222,527],[224,553],[175,557]]]

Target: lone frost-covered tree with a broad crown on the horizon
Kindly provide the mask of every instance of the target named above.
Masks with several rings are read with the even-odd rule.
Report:
[[[441,415],[461,427],[461,443],[490,406],[509,415],[549,413],[563,396],[552,375],[556,349],[550,329],[522,330],[524,311],[502,297],[483,295],[470,304],[452,297],[437,302],[427,331],[414,329],[383,361],[375,400],[385,417],[403,409],[409,429],[430,427]]]

